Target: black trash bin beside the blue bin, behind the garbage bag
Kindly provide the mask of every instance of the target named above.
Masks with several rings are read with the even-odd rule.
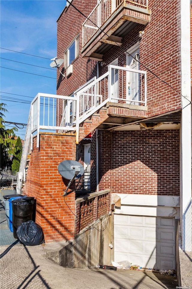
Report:
[[[33,206],[35,204],[34,197],[23,197],[12,200],[13,211],[13,237],[17,238],[16,230],[21,223],[33,219]]]

